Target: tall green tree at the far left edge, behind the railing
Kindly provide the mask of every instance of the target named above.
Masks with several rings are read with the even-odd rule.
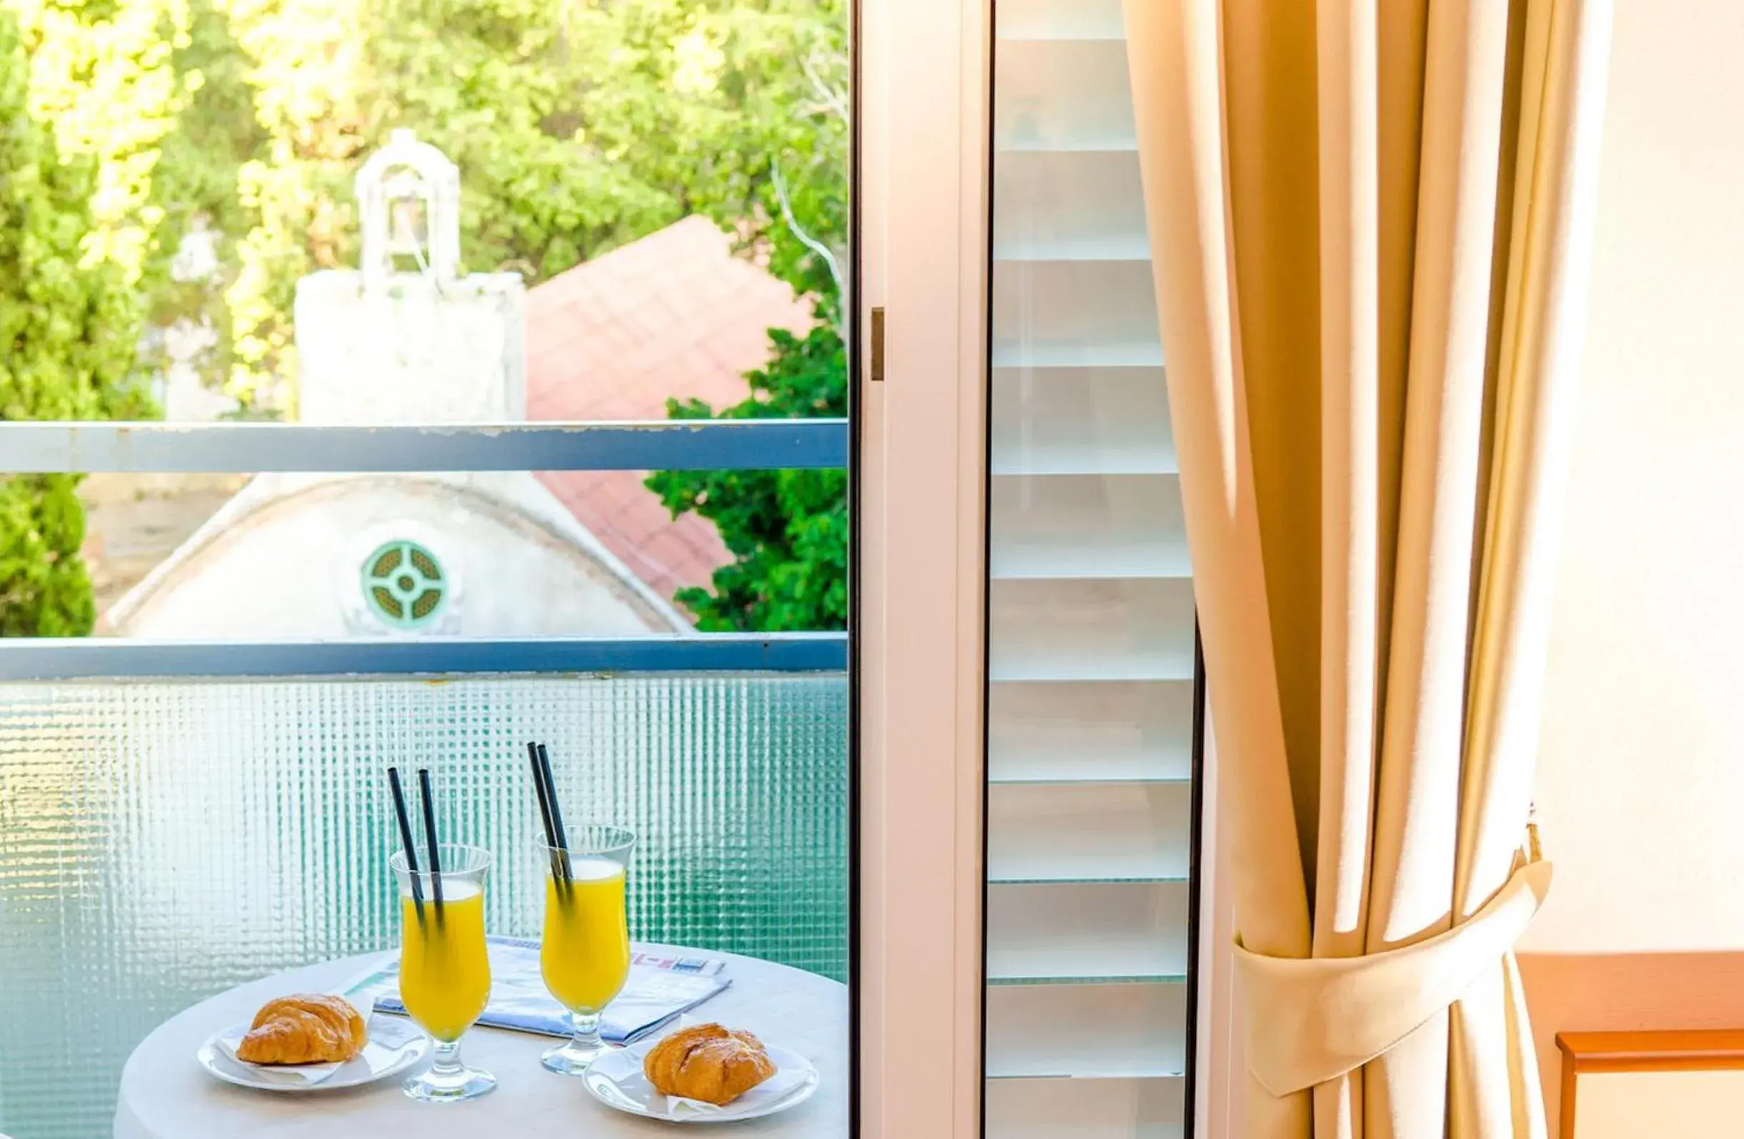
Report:
[[[37,117],[26,35],[0,7],[0,419],[136,417],[148,412],[133,375],[148,239],[127,230],[140,199],[106,180],[113,150],[80,157],[75,138],[73,155],[59,152]],[[84,529],[73,476],[0,481],[0,635],[91,631]]]

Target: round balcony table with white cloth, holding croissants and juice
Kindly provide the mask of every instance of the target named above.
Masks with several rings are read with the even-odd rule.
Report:
[[[647,945],[651,951],[705,956],[696,949]],[[727,959],[732,984],[692,1015],[745,1027],[773,1045],[806,1055],[820,1076],[818,1092],[799,1108],[729,1127],[732,1136],[848,1136],[848,987],[753,958]],[[460,1055],[497,1076],[497,1090],[464,1104],[419,1104],[399,1092],[403,1076],[335,1092],[255,1092],[220,1083],[194,1054],[213,1033],[255,1015],[286,992],[321,992],[344,986],[387,954],[345,958],[291,970],[220,992],[160,1024],[146,1036],[120,1076],[115,1139],[331,1139],[333,1136],[419,1136],[419,1139],[609,1139],[668,1136],[671,1123],[612,1111],[581,1087],[539,1066],[546,1036],[474,1027]],[[698,1132],[706,1134],[706,1127]]]

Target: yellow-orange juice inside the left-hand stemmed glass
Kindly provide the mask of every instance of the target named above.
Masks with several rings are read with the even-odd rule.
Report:
[[[426,897],[422,923],[412,898],[403,897],[399,917],[405,923],[399,999],[436,1040],[460,1040],[490,999],[485,893],[476,886],[448,886],[441,921],[436,919],[436,904]]]

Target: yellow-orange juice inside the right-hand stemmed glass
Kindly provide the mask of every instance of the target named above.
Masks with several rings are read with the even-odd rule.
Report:
[[[596,1013],[630,977],[624,867],[598,856],[574,856],[570,867],[569,890],[546,876],[539,965],[546,987],[565,1008]]]

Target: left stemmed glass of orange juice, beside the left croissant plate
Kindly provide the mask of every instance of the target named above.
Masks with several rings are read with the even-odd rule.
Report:
[[[459,1102],[497,1087],[488,1071],[460,1062],[460,1036],[490,999],[490,959],[485,956],[490,851],[446,842],[436,851],[438,874],[427,865],[417,874],[408,870],[405,851],[389,860],[399,879],[399,999],[436,1041],[429,1069],[403,1087],[412,1099]]]

